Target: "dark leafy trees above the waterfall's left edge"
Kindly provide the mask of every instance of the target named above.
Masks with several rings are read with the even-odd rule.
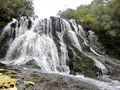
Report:
[[[0,29],[12,18],[19,19],[20,16],[32,16],[33,14],[34,9],[30,0],[0,0]]]

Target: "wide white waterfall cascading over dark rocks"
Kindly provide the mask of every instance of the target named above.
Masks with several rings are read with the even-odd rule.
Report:
[[[13,19],[4,28],[0,36],[0,43],[3,43],[0,53],[5,57],[0,58],[4,58],[4,62],[10,65],[29,65],[45,72],[66,74],[78,70],[79,67],[74,67],[76,60],[84,63],[86,59],[93,67],[107,74],[103,62],[88,54],[101,56],[94,50],[95,44],[91,37],[91,31],[87,37],[82,26],[75,20],[66,21],[59,17],[34,20],[21,17],[19,21]],[[82,64],[81,68],[85,66]]]

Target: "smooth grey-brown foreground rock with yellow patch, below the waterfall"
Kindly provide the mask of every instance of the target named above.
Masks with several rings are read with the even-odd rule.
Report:
[[[0,68],[0,90],[119,90],[107,82],[83,76],[43,73],[4,64]]]

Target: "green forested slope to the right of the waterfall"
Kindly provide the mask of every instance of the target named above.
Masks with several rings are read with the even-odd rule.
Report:
[[[120,59],[120,0],[93,0],[89,5],[58,14],[65,19],[80,21],[86,33],[93,30],[107,54]]]

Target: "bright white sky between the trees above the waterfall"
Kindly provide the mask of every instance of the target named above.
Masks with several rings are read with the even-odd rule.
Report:
[[[75,9],[81,4],[90,4],[92,0],[34,0],[35,13],[40,18],[56,16],[59,10]]]

